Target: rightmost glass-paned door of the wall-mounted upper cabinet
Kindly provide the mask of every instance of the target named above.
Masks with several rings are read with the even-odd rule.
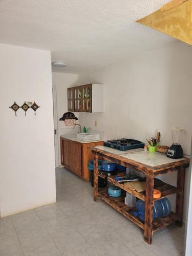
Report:
[[[82,86],[82,112],[92,112],[91,84]]]

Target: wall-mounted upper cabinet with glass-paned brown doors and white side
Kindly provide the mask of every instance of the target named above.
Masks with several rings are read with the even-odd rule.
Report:
[[[68,88],[68,111],[103,112],[103,84],[90,83]]]

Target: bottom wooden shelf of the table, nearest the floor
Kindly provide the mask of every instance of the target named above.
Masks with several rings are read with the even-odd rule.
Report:
[[[114,209],[124,215],[127,219],[134,222],[137,226],[144,229],[144,222],[133,215],[135,208],[128,207],[124,204],[124,197],[110,197],[107,193],[107,188],[99,189],[98,196],[106,203],[111,205]],[[157,218],[153,221],[153,233],[163,227],[166,227],[175,221],[179,220],[180,216],[175,212],[170,212],[167,217]]]

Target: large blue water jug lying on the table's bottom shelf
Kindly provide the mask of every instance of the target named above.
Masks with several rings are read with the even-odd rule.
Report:
[[[170,202],[167,198],[162,198],[155,201],[153,207],[153,220],[160,217],[165,217],[170,214]],[[136,203],[136,211],[134,211],[134,216],[138,217],[140,220],[145,220],[145,202],[138,200]]]

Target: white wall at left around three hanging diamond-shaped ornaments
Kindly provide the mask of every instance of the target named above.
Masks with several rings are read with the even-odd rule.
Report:
[[[55,202],[51,55],[0,45],[1,217]],[[36,101],[40,108],[9,106]]]

